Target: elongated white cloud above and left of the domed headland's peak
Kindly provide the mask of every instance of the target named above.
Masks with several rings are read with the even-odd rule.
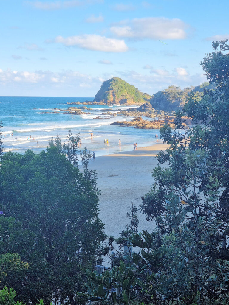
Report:
[[[82,36],[71,36],[63,38],[57,36],[54,40],[56,43],[62,43],[65,46],[78,46],[92,51],[103,51],[103,52],[126,52],[128,47],[124,40],[106,38],[100,35],[82,35]]]

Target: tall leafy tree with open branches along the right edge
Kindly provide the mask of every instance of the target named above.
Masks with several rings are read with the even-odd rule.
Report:
[[[135,271],[135,279],[140,280],[136,285],[142,289],[144,300],[155,305],[229,301],[226,42],[213,41],[213,52],[201,62],[209,83],[215,84],[216,89],[205,90],[201,99],[191,91],[184,109],[176,112],[179,127],[184,126],[184,115],[192,117],[196,125],[183,133],[173,132],[168,125],[160,130],[161,138],[170,147],[167,153],[161,151],[157,155],[160,165],[152,174],[154,184],[141,205],[147,220],[156,220],[157,228],[129,238],[133,246],[141,248],[141,254],[126,257],[129,262],[125,269]],[[128,292],[129,300],[136,285]],[[97,293],[104,303],[113,302],[100,291],[103,292],[101,287],[99,291],[88,290],[88,296]],[[122,298],[125,304],[129,300]]]

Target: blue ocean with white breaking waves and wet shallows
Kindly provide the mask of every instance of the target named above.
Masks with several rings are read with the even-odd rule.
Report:
[[[5,152],[10,150],[23,153],[27,149],[32,149],[38,153],[46,149],[48,140],[57,134],[61,136],[64,143],[69,129],[73,135],[80,132],[81,149],[87,146],[88,150],[96,153],[96,156],[132,150],[133,142],[137,142],[138,147],[149,146],[156,142],[155,134],[159,134],[159,130],[110,125],[115,121],[132,120],[133,117],[110,117],[101,114],[102,109],[109,111],[137,106],[88,105],[87,107],[93,110],[79,109],[85,112],[82,115],[41,113],[58,111],[53,108],[79,107],[82,105],[67,105],[67,102],[84,102],[85,100],[92,101],[93,97],[0,96],[0,120],[3,124]],[[98,116],[110,118],[93,119]],[[93,139],[90,136],[91,132],[93,132]],[[12,133],[13,136],[11,136]],[[104,144],[105,138],[108,139],[109,145]],[[119,145],[119,139],[121,145]]]

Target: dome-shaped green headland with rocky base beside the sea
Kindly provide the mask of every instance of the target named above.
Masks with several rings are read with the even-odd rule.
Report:
[[[149,102],[150,99],[151,95],[142,93],[119,77],[113,77],[103,82],[100,90],[96,93],[93,102],[133,105]]]

